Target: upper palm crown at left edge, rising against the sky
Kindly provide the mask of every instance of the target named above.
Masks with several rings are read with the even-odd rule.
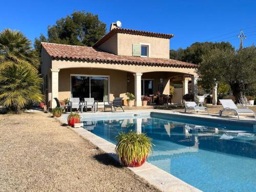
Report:
[[[29,66],[35,72],[39,67],[31,41],[19,31],[5,29],[0,33],[0,71],[12,63]]]

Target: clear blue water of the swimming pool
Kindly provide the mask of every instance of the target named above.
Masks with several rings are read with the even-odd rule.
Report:
[[[84,129],[116,144],[119,132],[153,138],[148,162],[203,191],[256,191],[253,127],[157,118],[84,121]]]

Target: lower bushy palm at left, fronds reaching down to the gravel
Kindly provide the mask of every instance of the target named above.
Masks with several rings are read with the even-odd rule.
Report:
[[[41,78],[29,66],[12,63],[0,73],[0,105],[16,113],[30,103],[39,103]]]

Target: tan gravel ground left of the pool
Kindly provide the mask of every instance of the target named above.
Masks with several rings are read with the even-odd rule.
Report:
[[[0,191],[159,191],[49,114],[0,115]]]

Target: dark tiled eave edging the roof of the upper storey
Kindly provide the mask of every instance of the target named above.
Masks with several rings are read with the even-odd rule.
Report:
[[[131,35],[141,35],[141,36],[148,36],[148,37],[159,37],[159,38],[167,38],[170,39],[174,37],[173,34],[165,34],[165,33],[154,33],[154,32],[148,32],[148,31],[138,31],[138,30],[132,30],[132,29],[122,29],[122,28],[115,28],[112,29],[109,33],[104,35],[101,39],[99,39],[93,47],[98,47],[101,45],[104,41],[108,40],[110,37],[112,37],[116,33],[125,33],[125,34],[131,34]]]

